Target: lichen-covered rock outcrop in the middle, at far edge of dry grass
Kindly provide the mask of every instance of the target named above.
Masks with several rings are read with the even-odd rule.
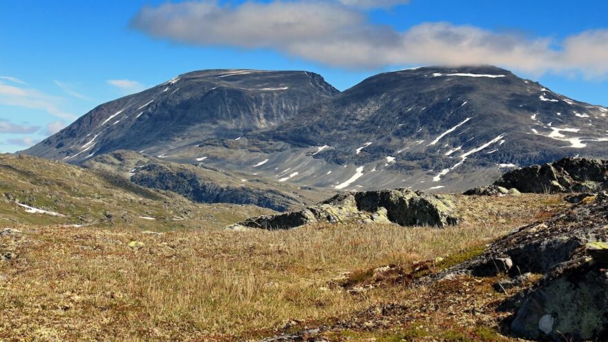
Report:
[[[403,226],[456,225],[455,206],[447,198],[410,189],[341,193],[300,211],[249,218],[228,229],[292,229],[316,222],[396,223]]]

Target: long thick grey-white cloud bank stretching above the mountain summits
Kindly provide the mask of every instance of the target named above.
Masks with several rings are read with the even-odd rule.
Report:
[[[339,3],[341,2],[341,3]],[[421,23],[406,31],[371,23],[354,7],[404,1],[216,1],[146,6],[131,25],[158,39],[200,46],[271,48],[332,66],[495,64],[529,73],[608,74],[608,30],[563,41],[524,37],[451,23]],[[344,6],[348,5],[348,6]]]

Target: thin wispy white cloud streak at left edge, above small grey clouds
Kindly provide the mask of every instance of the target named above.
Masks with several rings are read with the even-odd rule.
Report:
[[[20,83],[19,86],[9,85],[2,83],[0,80],[0,104],[46,111],[50,115],[66,120],[75,119],[77,115],[67,113],[59,108],[61,100],[60,97],[50,96],[36,89],[25,88]]]

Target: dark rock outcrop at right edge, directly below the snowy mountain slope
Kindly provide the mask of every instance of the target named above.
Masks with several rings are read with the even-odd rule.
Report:
[[[596,192],[608,188],[608,160],[564,158],[510,171],[495,186],[524,193]]]

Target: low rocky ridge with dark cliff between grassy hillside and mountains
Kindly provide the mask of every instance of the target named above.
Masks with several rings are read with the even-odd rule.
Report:
[[[229,173],[203,163],[180,164],[133,151],[113,151],[87,160],[83,166],[122,175],[125,180],[150,189],[178,193],[200,203],[257,205],[276,211],[296,209],[321,200],[318,189],[298,189],[291,184]]]

